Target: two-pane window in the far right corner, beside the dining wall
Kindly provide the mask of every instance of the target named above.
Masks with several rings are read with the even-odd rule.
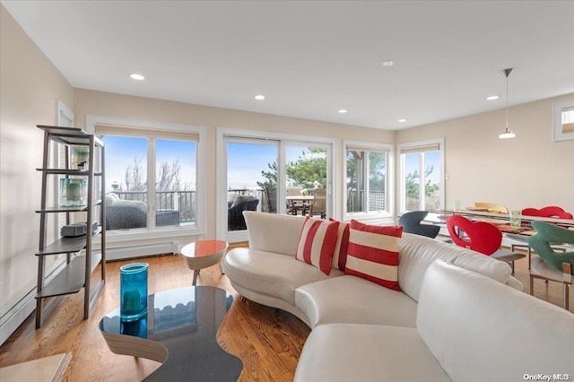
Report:
[[[444,140],[398,145],[399,210],[436,212],[444,205]]]

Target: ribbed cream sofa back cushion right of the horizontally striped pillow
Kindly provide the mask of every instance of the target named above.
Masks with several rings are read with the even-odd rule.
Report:
[[[419,300],[424,273],[438,258],[502,283],[509,281],[512,272],[508,264],[490,256],[411,233],[403,234],[399,247],[399,285],[415,301]]]

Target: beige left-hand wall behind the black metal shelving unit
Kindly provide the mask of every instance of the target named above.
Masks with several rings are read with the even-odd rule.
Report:
[[[56,101],[74,106],[74,90],[0,5],[0,343],[30,314],[19,301],[36,287],[43,132]],[[49,258],[52,270],[63,258]],[[22,309],[13,309],[14,306]],[[15,316],[14,316],[15,315]],[[23,318],[22,318],[23,317]]]

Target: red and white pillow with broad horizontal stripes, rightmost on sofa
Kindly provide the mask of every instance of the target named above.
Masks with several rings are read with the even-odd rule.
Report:
[[[398,248],[401,236],[402,226],[381,227],[352,220],[344,273],[400,291]]]

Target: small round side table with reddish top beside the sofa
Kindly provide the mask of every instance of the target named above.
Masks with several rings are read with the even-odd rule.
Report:
[[[181,254],[186,258],[187,266],[194,271],[192,285],[196,285],[197,274],[200,270],[222,261],[227,246],[227,241],[223,240],[198,240],[181,248]]]

